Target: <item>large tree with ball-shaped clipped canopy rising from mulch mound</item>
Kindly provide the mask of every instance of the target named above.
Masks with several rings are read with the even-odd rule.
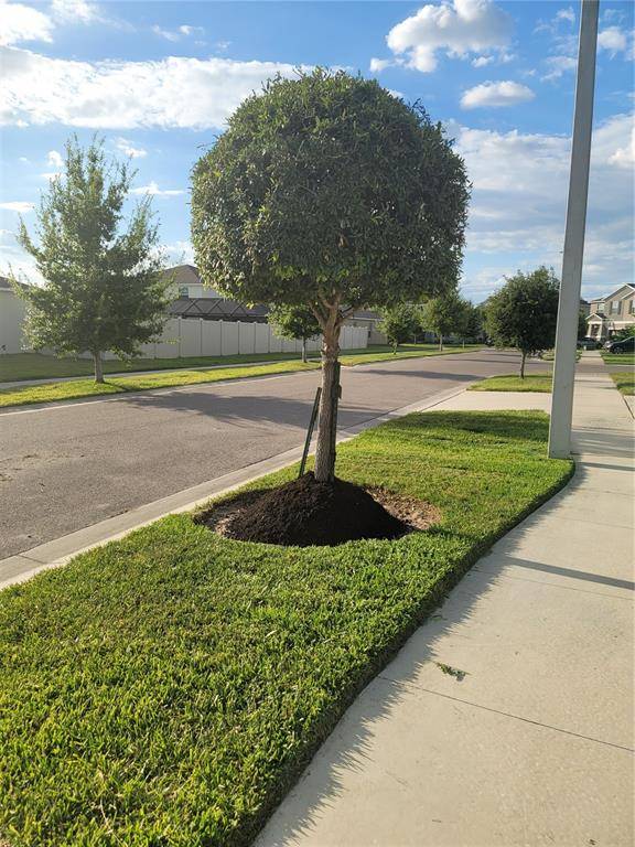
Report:
[[[467,200],[441,126],[343,71],[267,83],[196,163],[192,239],[204,281],[245,302],[309,305],[320,323],[319,482],[334,476],[346,315],[452,287]]]

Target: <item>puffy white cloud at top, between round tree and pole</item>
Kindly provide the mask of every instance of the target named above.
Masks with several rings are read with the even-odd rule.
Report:
[[[492,0],[445,0],[423,6],[394,26],[386,41],[395,54],[407,57],[410,67],[430,73],[439,52],[463,57],[503,49],[512,29],[512,18]]]

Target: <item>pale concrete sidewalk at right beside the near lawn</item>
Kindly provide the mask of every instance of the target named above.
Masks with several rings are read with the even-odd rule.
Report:
[[[633,418],[594,364],[572,482],[367,686],[258,847],[633,845]],[[472,398],[509,408],[437,408]]]

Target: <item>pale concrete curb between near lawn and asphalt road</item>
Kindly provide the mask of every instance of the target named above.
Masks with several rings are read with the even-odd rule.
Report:
[[[449,400],[451,397],[463,394],[467,385],[472,385],[472,383],[467,383],[464,387],[459,389],[450,388],[445,392],[440,392],[426,400],[412,403],[409,406],[402,406],[384,415],[369,418],[348,429],[341,429],[337,433],[337,443],[348,441],[364,430],[377,427],[388,420],[403,417],[413,411],[426,411],[431,409],[434,406]],[[312,448],[314,448],[314,443],[312,444]],[[265,476],[268,473],[279,471],[282,468],[287,468],[289,464],[293,464],[293,462],[300,460],[301,455],[302,444],[299,444],[291,450],[286,450],[282,453],[277,453],[260,462],[255,462],[246,468],[232,471],[215,480],[203,482],[190,489],[184,489],[175,494],[161,497],[153,503],[138,506],[121,515],[116,515],[115,517],[109,517],[106,521],[92,524],[83,529],[77,529],[75,533],[69,533],[53,542],[46,542],[45,544],[37,545],[29,550],[23,550],[14,556],[0,559],[0,590],[18,582],[24,582],[43,570],[65,565],[79,553],[85,553],[86,550],[99,547],[108,542],[122,538],[125,535],[128,535],[128,533],[131,533],[134,529],[140,529],[148,524],[152,524],[154,521],[165,517],[165,515],[191,512],[197,506],[206,503],[211,497],[217,497],[222,494],[229,493],[240,485],[245,485],[260,476]]]

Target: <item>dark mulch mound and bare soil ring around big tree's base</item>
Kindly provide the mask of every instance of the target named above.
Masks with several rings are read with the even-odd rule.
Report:
[[[399,538],[439,517],[427,503],[338,479],[316,482],[309,472],[278,489],[237,494],[197,521],[236,540],[308,547]]]

